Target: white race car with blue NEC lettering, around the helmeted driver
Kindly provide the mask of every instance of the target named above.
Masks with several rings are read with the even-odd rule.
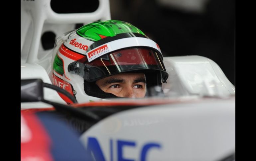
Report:
[[[38,10],[40,6],[44,8]],[[35,17],[30,17],[28,10]],[[77,148],[72,149],[70,158],[62,147],[47,144],[56,155],[47,154],[42,157],[45,160],[235,160],[235,87],[214,61],[197,55],[164,57],[169,73],[162,86],[164,95],[158,95],[156,88],[152,89],[154,97],[88,99],[76,104],[61,82],[56,81],[58,87],[52,85],[56,52],[43,50],[40,36],[49,29],[61,35],[73,30],[72,23],[111,19],[108,1],[100,0],[94,13],[67,15],[54,13],[50,0],[21,1],[21,18],[21,160],[35,155],[31,150],[35,146],[23,145],[40,131],[37,125],[29,125],[31,119],[24,121],[30,114],[39,116],[41,127],[57,129],[52,133],[46,130],[60,136],[52,137],[53,142],[73,139],[77,143],[63,145],[66,151]],[[33,34],[28,32],[31,20]],[[67,105],[60,93],[73,105]],[[46,124],[51,117],[54,119]],[[79,141],[71,134],[61,139],[66,131],[61,132],[61,125],[55,122],[71,127],[66,130],[76,133]],[[37,148],[45,147],[40,144]]]

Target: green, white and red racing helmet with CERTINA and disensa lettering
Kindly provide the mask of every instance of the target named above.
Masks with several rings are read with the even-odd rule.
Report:
[[[168,78],[159,45],[135,26],[118,20],[93,22],[63,34],[55,42],[52,61],[53,84],[78,103],[117,97],[95,84],[114,74],[144,73],[147,89],[161,87]]]

